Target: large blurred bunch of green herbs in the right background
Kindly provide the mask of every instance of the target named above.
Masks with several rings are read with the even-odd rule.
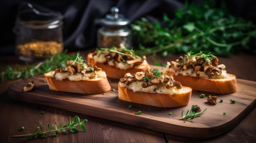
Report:
[[[213,51],[218,55],[241,50],[256,53],[253,46],[249,47],[250,41],[256,38],[256,25],[229,14],[225,3],[216,8],[214,0],[203,1],[199,6],[185,2],[184,9],[177,10],[173,19],[164,14],[163,20],[164,27],[146,18],[131,24],[134,37],[142,43],[137,54],[162,52],[166,56],[190,50],[196,53]]]

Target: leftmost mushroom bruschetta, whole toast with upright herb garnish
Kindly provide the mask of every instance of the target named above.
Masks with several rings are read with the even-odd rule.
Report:
[[[49,89],[83,94],[97,94],[110,91],[106,73],[97,66],[83,61],[77,53],[74,61],[68,60],[67,66],[45,73]]]

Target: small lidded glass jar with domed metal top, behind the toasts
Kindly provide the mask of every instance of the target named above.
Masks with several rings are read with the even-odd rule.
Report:
[[[98,48],[131,48],[132,32],[128,28],[130,21],[119,14],[117,7],[111,8],[111,14],[101,19],[103,27],[98,30]]]

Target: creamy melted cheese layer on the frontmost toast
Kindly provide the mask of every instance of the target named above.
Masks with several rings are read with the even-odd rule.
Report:
[[[147,93],[160,93],[160,94],[169,94],[173,95],[175,93],[180,93],[184,92],[185,90],[188,89],[177,89],[176,87],[171,87],[170,89],[167,89],[164,85],[162,84],[156,84],[156,85],[151,85],[147,88],[141,87],[142,82],[139,81],[133,81],[130,83],[130,85],[126,85],[125,83],[119,82],[120,87],[126,87],[133,92],[147,92]]]

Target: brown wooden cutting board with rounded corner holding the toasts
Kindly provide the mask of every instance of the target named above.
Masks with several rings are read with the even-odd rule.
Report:
[[[158,68],[160,71],[164,70],[163,67]],[[23,92],[23,87],[32,80],[36,85],[34,91]],[[16,82],[10,86],[9,96],[23,102],[61,108],[180,137],[200,139],[227,132],[256,105],[256,82],[241,79],[237,79],[237,93],[217,95],[193,91],[189,105],[179,108],[159,108],[121,101],[118,99],[118,80],[110,80],[110,85],[115,91],[95,95],[51,91],[43,82],[44,80],[44,76],[38,76]],[[201,93],[206,96],[217,95],[218,101],[222,99],[223,102],[218,102],[216,105],[208,104],[207,97],[199,97]],[[236,103],[230,104],[230,100],[235,100]],[[193,104],[199,105],[201,109],[207,108],[207,110],[201,117],[179,120],[181,112],[184,110],[186,113]],[[129,105],[133,107],[128,108]],[[141,111],[141,115],[135,115],[137,111]],[[172,115],[168,115],[169,112],[172,112]]]

